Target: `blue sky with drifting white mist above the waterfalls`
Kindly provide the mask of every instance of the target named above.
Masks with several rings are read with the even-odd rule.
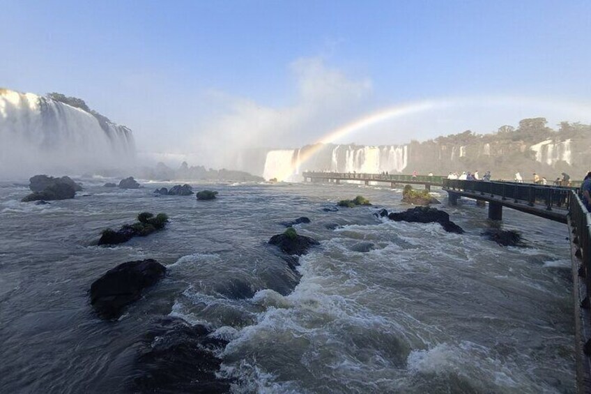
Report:
[[[339,142],[489,132],[530,116],[591,122],[589,0],[0,0],[0,9],[0,86],[83,98],[132,128],[141,151],[199,153],[212,165],[233,154],[214,146],[301,146],[423,100],[447,105]]]

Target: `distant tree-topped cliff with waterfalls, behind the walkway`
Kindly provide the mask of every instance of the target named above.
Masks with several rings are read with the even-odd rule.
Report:
[[[293,174],[282,176],[290,169]],[[523,119],[519,128],[502,126],[493,134],[466,131],[400,146],[328,144],[269,151],[263,169],[255,172],[267,179],[296,181],[305,170],[444,175],[478,170],[491,171],[493,179],[513,179],[516,172],[530,179],[536,172],[551,181],[562,172],[583,179],[590,169],[591,126],[562,122],[557,131],[546,127],[546,119],[535,118]]]

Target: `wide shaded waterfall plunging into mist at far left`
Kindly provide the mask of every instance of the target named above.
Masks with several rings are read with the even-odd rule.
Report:
[[[0,89],[1,177],[82,174],[125,167],[134,158],[125,126],[51,98]]]

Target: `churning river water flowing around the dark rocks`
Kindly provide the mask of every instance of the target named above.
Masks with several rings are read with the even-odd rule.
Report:
[[[45,206],[20,202],[26,184],[0,183],[3,393],[125,392],[157,315],[229,340],[220,377],[236,379],[238,393],[574,392],[565,225],[506,209],[505,227],[527,247],[503,248],[479,235],[486,211],[470,201],[445,207],[462,235],[378,219],[376,206],[408,206],[400,190],[375,186],[208,185],[220,198],[198,202],[154,197],[160,184],[82,182],[75,199]],[[358,194],[376,206],[323,211]],[[93,245],[140,211],[171,223],[116,248]],[[266,241],[303,215],[312,222],[298,232],[321,245],[300,259],[298,282]],[[375,249],[356,252],[360,242]],[[119,321],[98,319],[91,282],[148,257],[167,278]],[[237,296],[237,284],[250,294]]]

